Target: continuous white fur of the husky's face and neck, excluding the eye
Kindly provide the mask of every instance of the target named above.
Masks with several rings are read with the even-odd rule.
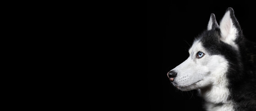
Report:
[[[205,56],[196,58],[198,51]],[[182,91],[199,89],[207,102],[207,111],[234,111],[232,101],[228,100],[228,61],[220,55],[209,55],[200,40],[193,43],[189,54],[186,61],[173,69],[177,72],[173,85]],[[215,105],[219,103],[223,105]]]

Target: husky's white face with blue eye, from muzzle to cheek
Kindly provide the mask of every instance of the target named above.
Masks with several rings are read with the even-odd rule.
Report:
[[[174,86],[182,91],[189,91],[213,85],[215,80],[222,79],[220,74],[225,73],[228,67],[223,56],[211,55],[200,40],[194,42],[189,54],[186,61],[172,70],[177,73],[172,81]]]

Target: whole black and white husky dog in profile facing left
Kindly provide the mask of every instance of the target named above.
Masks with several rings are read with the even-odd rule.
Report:
[[[187,60],[167,73],[173,86],[198,89],[207,111],[256,111],[256,43],[243,36],[232,8],[220,25],[212,13],[188,52]]]

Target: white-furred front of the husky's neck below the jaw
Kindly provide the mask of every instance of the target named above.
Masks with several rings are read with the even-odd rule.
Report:
[[[207,111],[234,111],[227,85],[224,85],[224,82],[218,84],[199,89],[199,93],[206,101],[205,108]]]

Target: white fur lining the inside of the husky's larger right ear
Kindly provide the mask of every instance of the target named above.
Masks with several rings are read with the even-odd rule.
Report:
[[[230,11],[227,11],[221,19],[220,29],[221,41],[232,45],[235,47],[235,49],[238,49],[238,46],[235,43],[237,30],[232,22],[232,19],[230,18]]]

